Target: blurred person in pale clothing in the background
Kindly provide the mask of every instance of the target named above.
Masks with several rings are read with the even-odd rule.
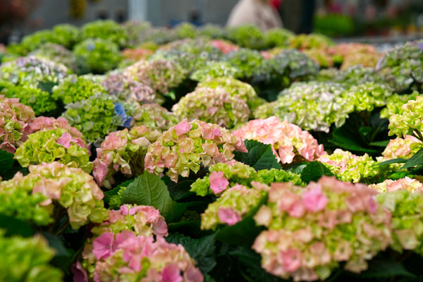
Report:
[[[282,27],[281,17],[271,0],[240,0],[229,15],[228,26],[257,25],[262,30]]]

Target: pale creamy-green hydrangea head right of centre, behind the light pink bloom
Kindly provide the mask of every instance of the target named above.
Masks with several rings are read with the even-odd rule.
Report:
[[[344,88],[332,82],[295,82],[275,102],[259,106],[255,118],[277,116],[305,130],[329,132],[330,126],[345,123],[354,104]]]

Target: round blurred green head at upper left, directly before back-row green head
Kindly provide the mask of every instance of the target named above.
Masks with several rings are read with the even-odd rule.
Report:
[[[118,66],[118,45],[105,39],[85,39],[73,48],[81,73],[105,73]]]

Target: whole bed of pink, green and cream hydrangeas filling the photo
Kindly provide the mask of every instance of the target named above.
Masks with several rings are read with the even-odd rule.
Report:
[[[0,281],[420,281],[423,43],[57,25],[0,58]]]

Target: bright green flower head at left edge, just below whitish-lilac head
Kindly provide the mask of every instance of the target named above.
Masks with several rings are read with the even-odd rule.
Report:
[[[0,85],[0,89],[1,86],[3,85]],[[13,83],[7,83],[4,86],[0,90],[0,94],[4,94],[7,98],[19,99],[20,103],[32,107],[36,116],[48,114],[56,109],[56,102],[51,98],[49,92],[28,85],[16,86]]]

